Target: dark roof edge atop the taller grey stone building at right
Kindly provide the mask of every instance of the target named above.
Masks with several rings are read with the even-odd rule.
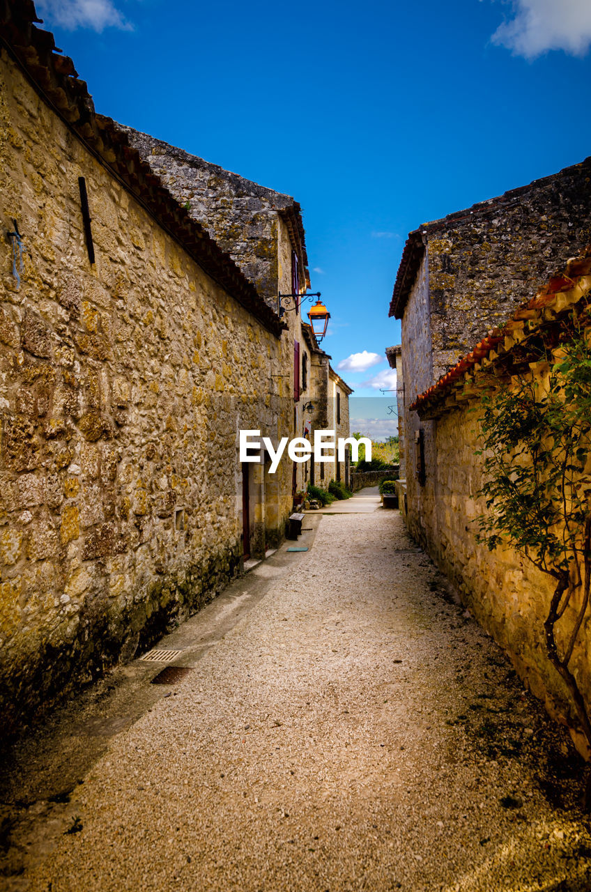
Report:
[[[404,307],[412,291],[417,273],[420,268],[420,261],[425,253],[429,236],[437,235],[437,233],[453,227],[462,227],[467,223],[473,223],[478,219],[487,219],[489,216],[498,215],[499,211],[514,208],[520,204],[522,196],[528,194],[533,189],[545,188],[550,186],[558,178],[567,176],[570,172],[581,168],[582,165],[589,165],[590,159],[580,161],[579,164],[573,164],[571,167],[559,170],[557,173],[551,174],[549,177],[535,179],[527,186],[519,186],[516,189],[510,189],[502,195],[495,198],[489,198],[484,202],[472,204],[470,208],[463,211],[454,211],[446,217],[437,220],[431,220],[429,223],[423,223],[418,229],[414,229],[404,244],[403,256],[398,267],[392,300],[390,301],[390,310],[388,316],[394,316],[397,319],[403,317]]]

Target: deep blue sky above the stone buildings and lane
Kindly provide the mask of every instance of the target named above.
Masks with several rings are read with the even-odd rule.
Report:
[[[379,393],[404,240],[585,158],[589,0],[45,0],[96,109],[304,211],[323,346]],[[355,368],[351,368],[355,367]],[[355,370],[356,369],[356,370]],[[366,386],[363,386],[366,384]]]

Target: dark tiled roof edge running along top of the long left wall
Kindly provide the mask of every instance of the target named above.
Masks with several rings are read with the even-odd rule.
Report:
[[[285,323],[262,300],[228,254],[162,186],[111,118],[96,114],[86,81],[79,79],[71,59],[60,54],[53,34],[35,27],[40,21],[32,0],[0,0],[0,44],[37,93],[104,168],[224,291],[279,337]]]

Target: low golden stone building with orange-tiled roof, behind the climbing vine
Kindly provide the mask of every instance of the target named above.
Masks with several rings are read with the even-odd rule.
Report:
[[[587,266],[591,268],[591,259]],[[557,280],[554,280],[557,281]],[[580,311],[591,299],[591,275],[544,289],[504,326],[485,335],[436,385],[421,393],[410,409],[423,425],[432,425],[435,465],[424,470],[430,478],[421,493],[422,540],[437,566],[454,583],[464,602],[495,640],[512,657],[513,665],[549,713],[567,724],[584,756],[591,756],[572,706],[569,690],[548,661],[545,619],[556,581],[510,547],[493,551],[479,543],[478,517],[487,505],[478,493],[485,481],[479,442],[479,401],[492,387],[512,387],[512,374],[529,369],[544,392],[548,364],[540,361],[542,340],[557,341],[562,319]],[[583,314],[588,324],[588,317]],[[543,335],[542,335],[543,333]],[[555,357],[560,355],[560,349]],[[559,652],[582,607],[582,587],[573,591],[557,626]],[[579,690],[591,706],[591,629],[583,624],[570,661]]]

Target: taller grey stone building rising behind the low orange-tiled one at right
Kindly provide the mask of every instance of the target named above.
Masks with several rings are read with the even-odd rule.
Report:
[[[591,158],[529,186],[425,223],[404,246],[389,315],[402,319],[408,524],[424,544],[437,464],[416,396],[501,325],[564,258],[591,242]],[[426,494],[429,497],[426,499]]]

